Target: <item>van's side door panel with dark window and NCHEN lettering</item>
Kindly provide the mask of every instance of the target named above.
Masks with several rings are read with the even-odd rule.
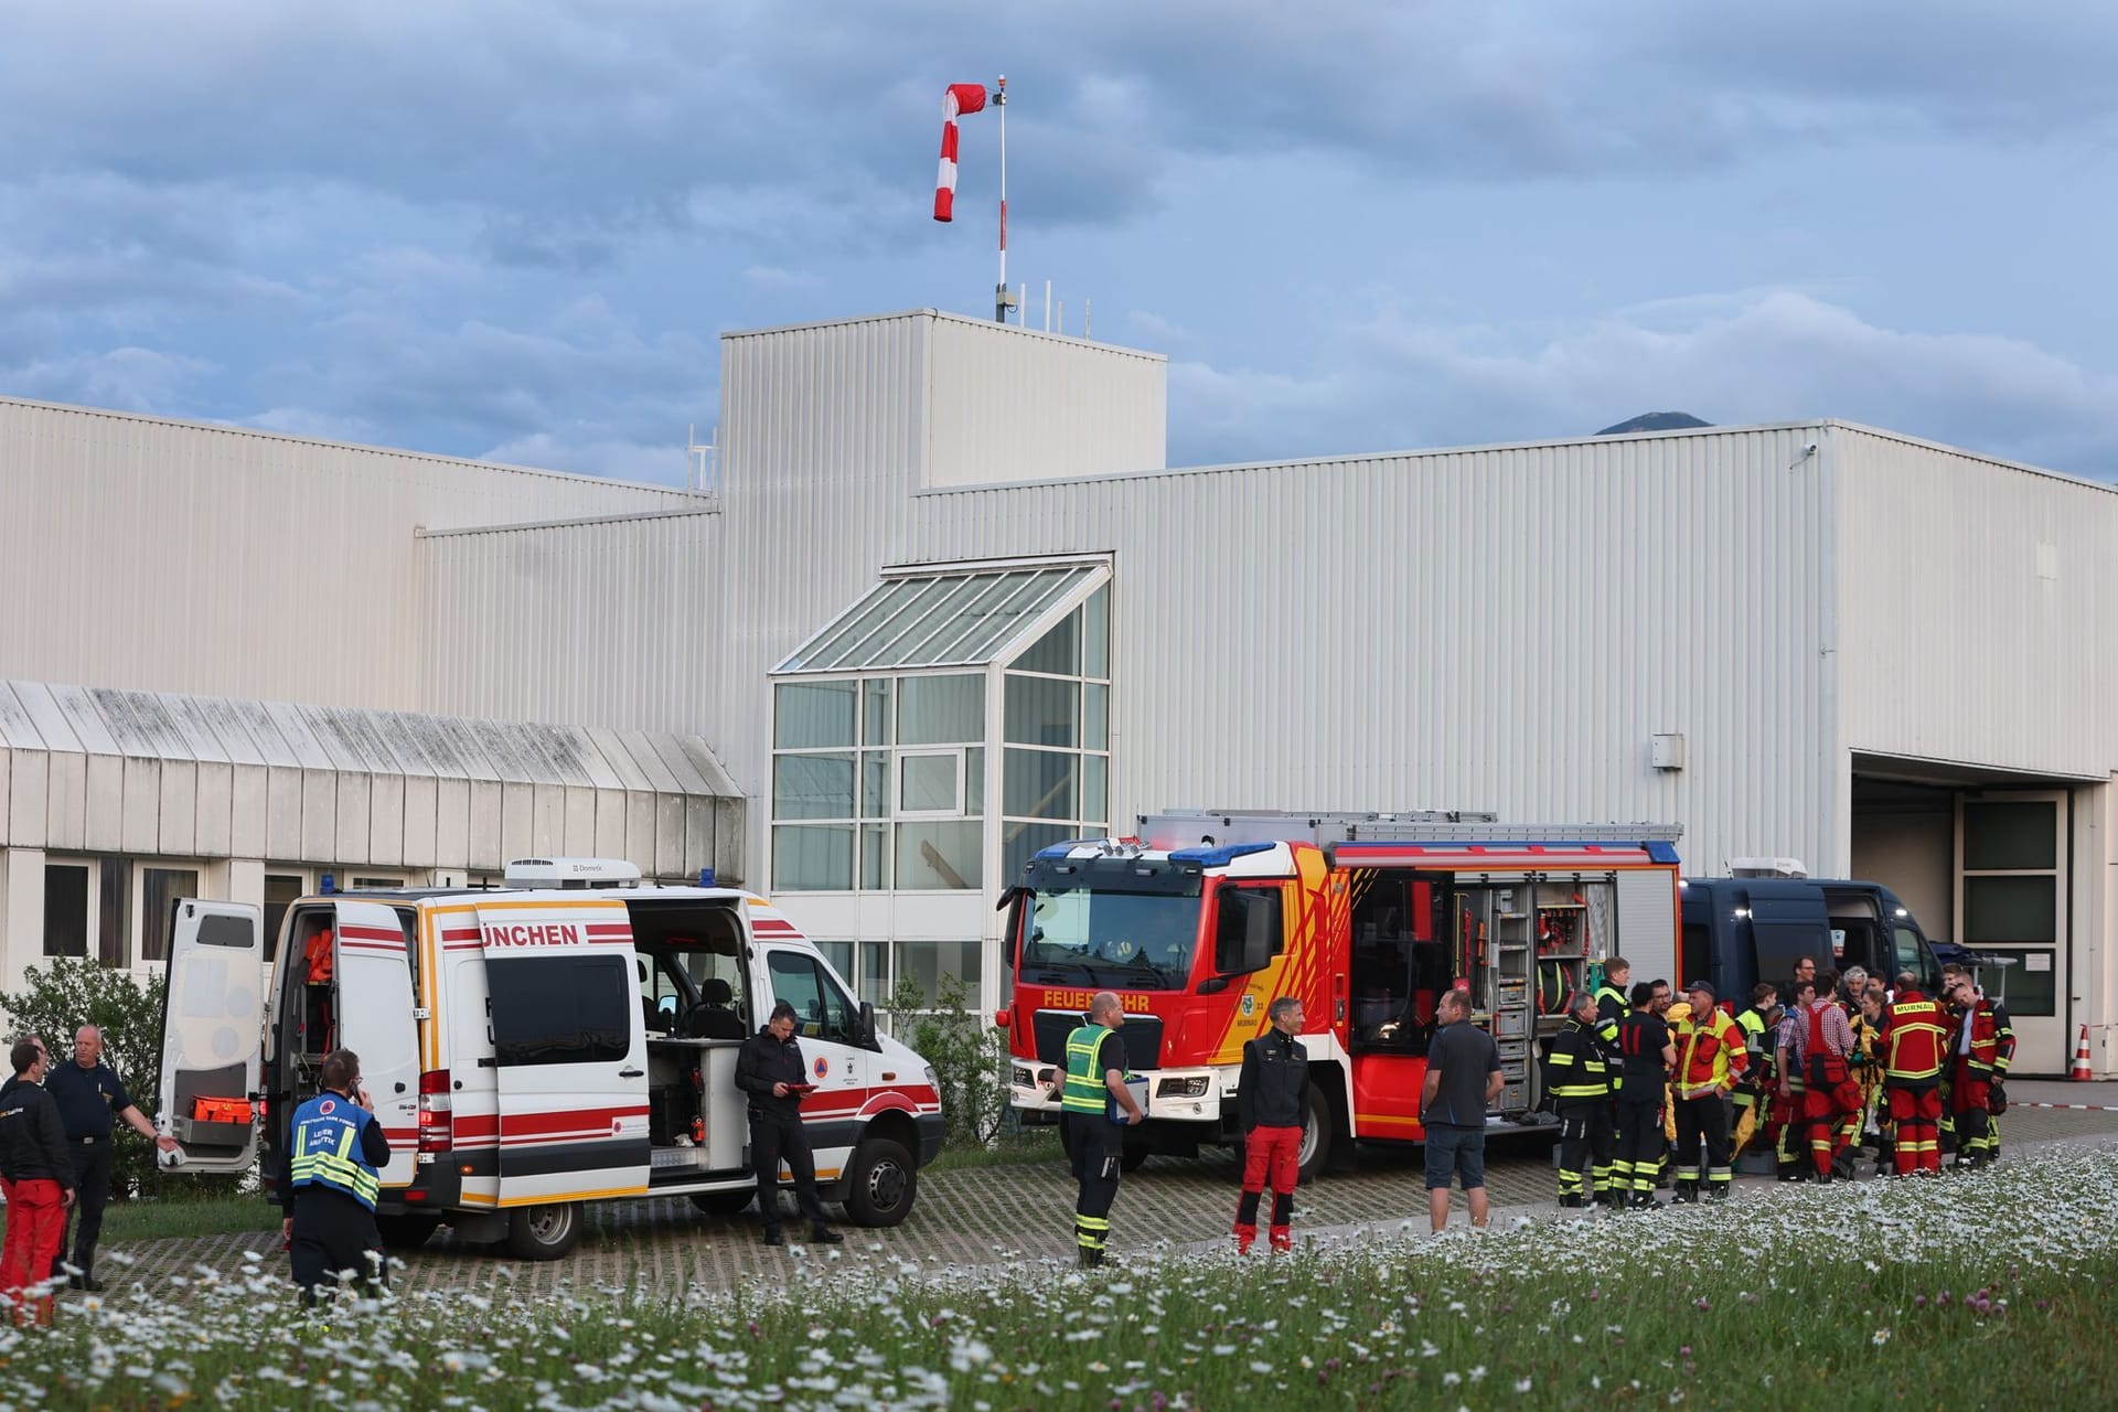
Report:
[[[500,1205],[648,1190],[648,1044],[616,900],[479,902]]]

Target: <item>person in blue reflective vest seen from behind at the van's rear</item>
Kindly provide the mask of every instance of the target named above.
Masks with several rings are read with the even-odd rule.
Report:
[[[294,1253],[303,1304],[339,1270],[383,1283],[383,1236],[375,1228],[390,1139],[360,1086],[360,1056],[324,1054],[322,1092],[294,1109],[280,1156],[282,1234]]]

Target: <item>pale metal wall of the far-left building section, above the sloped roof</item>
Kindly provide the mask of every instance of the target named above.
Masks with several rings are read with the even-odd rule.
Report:
[[[0,398],[0,675],[415,707],[413,527],[680,491]]]

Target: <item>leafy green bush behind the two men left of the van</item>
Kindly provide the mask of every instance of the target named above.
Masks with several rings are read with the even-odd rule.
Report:
[[[155,976],[146,982],[131,972],[110,970],[95,961],[55,957],[32,965],[23,989],[0,993],[0,1010],[8,1014],[11,1035],[36,1035],[51,1050],[55,1065],[74,1063],[74,1031],[95,1025],[104,1031],[104,1063],[125,1082],[140,1111],[150,1120],[161,1090],[161,1008],[169,982]],[[155,1166],[155,1145],[127,1124],[114,1124],[110,1152],[110,1194],[127,1196],[227,1196],[241,1177],[203,1177],[163,1173]]]

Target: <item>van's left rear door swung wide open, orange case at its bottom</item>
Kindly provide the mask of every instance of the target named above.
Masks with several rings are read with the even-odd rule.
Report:
[[[265,1044],[265,940],[244,902],[176,904],[161,1001],[161,1090],[180,1171],[241,1173],[258,1156],[252,1088]]]

